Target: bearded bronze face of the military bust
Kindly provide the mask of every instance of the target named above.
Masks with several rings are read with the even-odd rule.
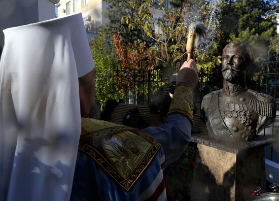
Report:
[[[247,67],[246,49],[240,45],[226,46],[222,55],[222,75],[224,80],[237,84],[240,79],[245,79]]]

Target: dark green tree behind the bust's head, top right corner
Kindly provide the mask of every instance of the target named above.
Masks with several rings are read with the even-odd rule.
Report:
[[[223,23],[220,45],[231,40],[245,42],[252,47],[254,58],[266,57],[271,39],[276,37],[277,1],[222,1]],[[274,44],[273,44],[274,45]]]

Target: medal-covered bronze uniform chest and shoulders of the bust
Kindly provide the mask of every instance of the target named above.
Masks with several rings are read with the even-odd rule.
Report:
[[[249,141],[273,122],[275,103],[271,96],[246,89],[235,96],[219,97],[222,92],[223,89],[213,91],[204,96],[202,101],[211,137]],[[268,121],[263,122],[263,118]]]

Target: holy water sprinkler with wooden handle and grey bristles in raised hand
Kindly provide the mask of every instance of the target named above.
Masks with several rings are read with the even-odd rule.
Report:
[[[191,54],[202,39],[206,36],[206,27],[201,22],[192,22],[189,26],[189,33],[187,36],[186,51],[188,54],[187,61],[191,59]]]

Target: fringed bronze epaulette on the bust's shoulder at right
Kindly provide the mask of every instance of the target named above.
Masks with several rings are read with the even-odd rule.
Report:
[[[257,93],[252,90],[248,91],[255,95],[250,100],[250,106],[255,112],[261,116],[275,117],[276,103],[272,96],[265,93]]]

